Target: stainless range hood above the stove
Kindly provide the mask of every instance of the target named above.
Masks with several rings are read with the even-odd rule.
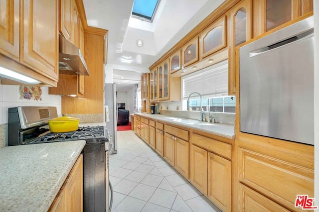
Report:
[[[89,70],[80,49],[60,34],[59,73],[89,76]]]

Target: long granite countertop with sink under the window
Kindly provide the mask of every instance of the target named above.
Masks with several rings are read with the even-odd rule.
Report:
[[[212,133],[215,135],[223,136],[230,139],[235,139],[235,125],[224,123],[208,123],[190,118],[173,117],[169,115],[148,114],[148,113],[135,113],[147,118],[152,118],[166,123],[172,123],[191,129],[196,129],[201,132]]]

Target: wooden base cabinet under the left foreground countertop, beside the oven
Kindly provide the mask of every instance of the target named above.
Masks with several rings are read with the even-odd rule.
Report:
[[[83,212],[83,155],[75,162],[69,176],[53,201],[50,212]]]

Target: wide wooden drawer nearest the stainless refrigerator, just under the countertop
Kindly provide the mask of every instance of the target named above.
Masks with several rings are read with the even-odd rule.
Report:
[[[207,149],[210,152],[214,152],[218,155],[224,156],[226,158],[231,159],[231,144],[224,143],[222,141],[218,141],[212,138],[207,138],[202,135],[192,134],[192,143],[200,146],[204,149]]]

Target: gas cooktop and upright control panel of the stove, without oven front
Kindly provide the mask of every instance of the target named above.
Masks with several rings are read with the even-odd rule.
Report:
[[[108,142],[105,126],[84,126],[76,131],[52,133],[48,120],[57,117],[56,107],[22,106],[9,108],[8,145],[23,145],[70,140],[87,143]]]

